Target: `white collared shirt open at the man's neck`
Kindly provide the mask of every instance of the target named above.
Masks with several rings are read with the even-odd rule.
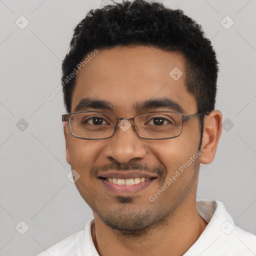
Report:
[[[256,236],[234,225],[220,201],[196,200],[200,216],[208,223],[183,256],[255,256]],[[38,256],[98,256],[91,237],[90,219],[84,230],[54,244]]]

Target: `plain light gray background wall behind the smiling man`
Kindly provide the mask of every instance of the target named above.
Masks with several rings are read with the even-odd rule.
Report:
[[[62,134],[62,93],[51,100],[46,94],[60,82],[60,63],[72,29],[100,3],[0,0],[2,256],[35,255],[83,229],[92,217],[66,177],[70,167],[65,160]],[[256,234],[256,1],[163,3],[183,9],[202,24],[220,62],[216,109],[227,120],[214,161],[201,166],[197,196],[222,201],[236,225]],[[21,23],[21,15],[29,21],[24,29],[15,24],[16,20]],[[221,24],[226,15],[234,21],[229,29],[222,25],[224,22],[229,26],[229,18]],[[21,220],[29,226],[23,235],[19,232],[25,231],[26,225],[19,223]]]

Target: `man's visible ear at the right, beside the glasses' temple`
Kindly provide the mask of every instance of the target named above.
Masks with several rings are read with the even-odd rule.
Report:
[[[205,115],[200,155],[201,163],[207,164],[214,159],[221,131],[221,112],[219,110],[213,110],[208,115]]]

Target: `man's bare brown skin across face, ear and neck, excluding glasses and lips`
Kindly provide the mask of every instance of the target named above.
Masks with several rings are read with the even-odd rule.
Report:
[[[178,52],[147,46],[100,50],[76,75],[71,111],[82,98],[90,97],[107,100],[114,109],[83,110],[133,117],[138,114],[133,103],[168,97],[182,106],[184,114],[196,113],[195,97],[186,90],[185,75],[176,81],[169,75],[175,66],[184,74],[184,63]],[[132,128],[125,132],[118,128],[111,138],[103,140],[76,138],[67,125],[64,134],[67,162],[80,174],[76,187],[93,210],[91,233],[99,255],[182,255],[197,240],[207,224],[195,202],[199,163],[207,164],[214,158],[221,134],[218,110],[204,117],[200,157],[154,202],[148,200],[149,196],[196,153],[200,140],[198,117],[185,121],[181,135],[171,139],[142,139]],[[118,166],[129,167],[131,163],[145,164],[148,173],[154,167],[160,169],[149,186],[132,195],[116,196],[93,171],[106,164],[120,170]]]

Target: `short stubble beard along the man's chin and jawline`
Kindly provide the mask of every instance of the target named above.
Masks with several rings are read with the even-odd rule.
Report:
[[[192,171],[192,175],[185,184],[181,185],[177,193],[178,196],[172,198],[162,207],[147,201],[144,205],[141,205],[139,209],[131,209],[129,207],[129,205],[133,203],[131,196],[116,196],[115,200],[120,207],[115,211],[111,211],[108,208],[106,212],[105,207],[97,207],[95,203],[88,202],[88,200],[86,200],[81,193],[80,194],[94,213],[96,213],[107,226],[116,230],[119,234],[133,237],[145,236],[161,226],[165,227],[167,218],[168,222],[171,222],[171,219],[175,218],[177,207],[184,202],[194,185],[196,186],[197,184],[199,159],[195,160],[193,165],[190,166],[189,169],[186,169],[186,171]],[[162,184],[160,187],[161,186]],[[159,200],[159,198],[156,200]]]

